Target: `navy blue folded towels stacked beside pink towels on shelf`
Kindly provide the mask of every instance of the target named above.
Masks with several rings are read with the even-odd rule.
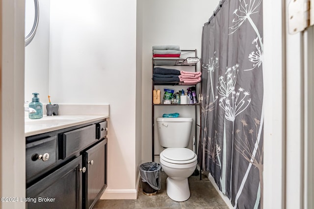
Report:
[[[154,82],[179,82],[180,70],[156,67],[153,70]]]

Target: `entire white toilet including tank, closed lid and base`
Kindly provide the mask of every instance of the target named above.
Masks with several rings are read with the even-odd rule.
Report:
[[[167,178],[167,194],[182,202],[190,197],[187,178],[197,165],[197,155],[185,148],[189,144],[193,119],[190,117],[157,117],[160,145],[160,164]]]

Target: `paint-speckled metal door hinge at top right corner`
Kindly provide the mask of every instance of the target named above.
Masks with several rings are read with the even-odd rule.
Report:
[[[288,4],[288,31],[295,34],[313,25],[311,7],[314,0],[290,0]],[[312,20],[311,20],[312,19]]]

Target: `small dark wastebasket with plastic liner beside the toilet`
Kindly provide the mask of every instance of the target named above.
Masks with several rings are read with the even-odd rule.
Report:
[[[161,165],[155,162],[143,163],[139,166],[142,188],[145,195],[157,194],[161,187]]]

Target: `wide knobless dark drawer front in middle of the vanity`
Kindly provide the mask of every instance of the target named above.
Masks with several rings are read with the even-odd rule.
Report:
[[[59,141],[59,159],[64,160],[95,141],[95,124],[61,134]]]

